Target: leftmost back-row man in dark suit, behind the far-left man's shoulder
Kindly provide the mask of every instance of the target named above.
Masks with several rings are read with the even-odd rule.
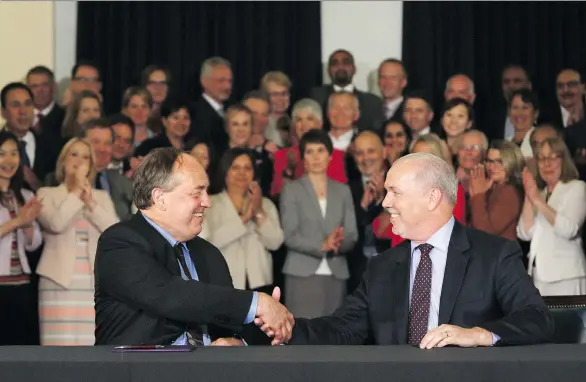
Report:
[[[33,130],[37,133],[47,130],[55,137],[60,137],[65,110],[55,102],[55,75],[46,66],[35,66],[28,71],[26,84],[34,96]]]

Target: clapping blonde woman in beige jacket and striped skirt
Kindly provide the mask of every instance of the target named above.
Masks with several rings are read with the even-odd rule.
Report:
[[[92,189],[89,143],[69,140],[57,160],[57,187],[42,187],[38,221],[45,247],[37,268],[41,345],[93,345],[93,267],[98,237],[118,221],[106,191]]]

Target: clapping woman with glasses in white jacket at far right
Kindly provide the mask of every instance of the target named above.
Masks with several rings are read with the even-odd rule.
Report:
[[[517,235],[531,240],[529,274],[542,296],[586,293],[586,258],[581,229],[586,218],[586,183],[563,140],[548,138],[535,151],[537,180],[523,172],[525,202]]]

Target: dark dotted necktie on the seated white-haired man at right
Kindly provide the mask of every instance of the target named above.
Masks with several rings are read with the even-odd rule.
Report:
[[[409,309],[409,343],[419,345],[427,333],[429,305],[431,300],[431,258],[433,246],[427,243],[418,245],[421,260],[415,272],[411,307]]]

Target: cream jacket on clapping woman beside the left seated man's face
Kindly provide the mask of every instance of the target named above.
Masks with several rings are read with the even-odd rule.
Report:
[[[273,283],[273,259],[269,251],[283,243],[283,230],[277,208],[262,198],[266,219],[259,227],[254,222],[242,223],[227,193],[212,195],[212,207],[205,212],[199,237],[218,247],[230,269],[234,288],[255,289]]]

